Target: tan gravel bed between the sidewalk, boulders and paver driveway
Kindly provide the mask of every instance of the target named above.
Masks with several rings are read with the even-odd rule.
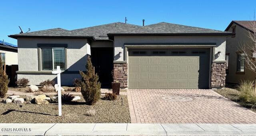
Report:
[[[80,97],[78,101],[62,103],[62,117],[58,117],[58,103],[36,105],[0,102],[0,123],[130,123],[126,95],[118,95],[115,101],[101,99],[92,106],[86,105],[82,95]],[[87,111],[93,109],[95,116],[86,115]]]

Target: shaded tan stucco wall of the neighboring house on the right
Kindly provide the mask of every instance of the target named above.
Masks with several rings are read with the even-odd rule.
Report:
[[[232,24],[228,31],[232,31],[232,27],[236,24]],[[252,43],[251,39],[248,38],[248,31],[243,29],[239,25],[236,25],[236,37],[227,37],[226,53],[229,53],[228,61],[228,73],[226,76],[226,82],[239,83],[241,80],[254,80],[255,74],[251,70],[245,68],[244,74],[237,74],[237,54],[236,51],[240,50],[240,46],[243,44]],[[245,62],[246,64],[246,62]]]

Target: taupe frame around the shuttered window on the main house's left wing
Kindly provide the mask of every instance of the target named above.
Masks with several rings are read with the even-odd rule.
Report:
[[[50,48],[52,49],[52,70],[43,70],[42,68],[42,48]],[[64,68],[62,71],[67,70],[67,48],[66,47],[49,47],[49,46],[40,46],[38,47],[38,70],[39,71],[53,71],[54,69],[54,49],[64,49]]]

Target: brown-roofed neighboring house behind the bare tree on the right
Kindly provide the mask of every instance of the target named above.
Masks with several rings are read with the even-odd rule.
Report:
[[[248,37],[249,32],[254,33],[251,21],[232,21],[225,31],[236,33],[227,37],[226,42],[226,82],[239,83],[242,80],[255,80],[255,74],[252,70],[245,67],[244,54],[240,52],[240,47],[252,43]]]

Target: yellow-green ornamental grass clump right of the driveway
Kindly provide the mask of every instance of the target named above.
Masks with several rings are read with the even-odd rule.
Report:
[[[237,89],[241,92],[239,95],[240,100],[253,105],[256,104],[256,92],[254,91],[253,81],[244,80],[238,85]]]

